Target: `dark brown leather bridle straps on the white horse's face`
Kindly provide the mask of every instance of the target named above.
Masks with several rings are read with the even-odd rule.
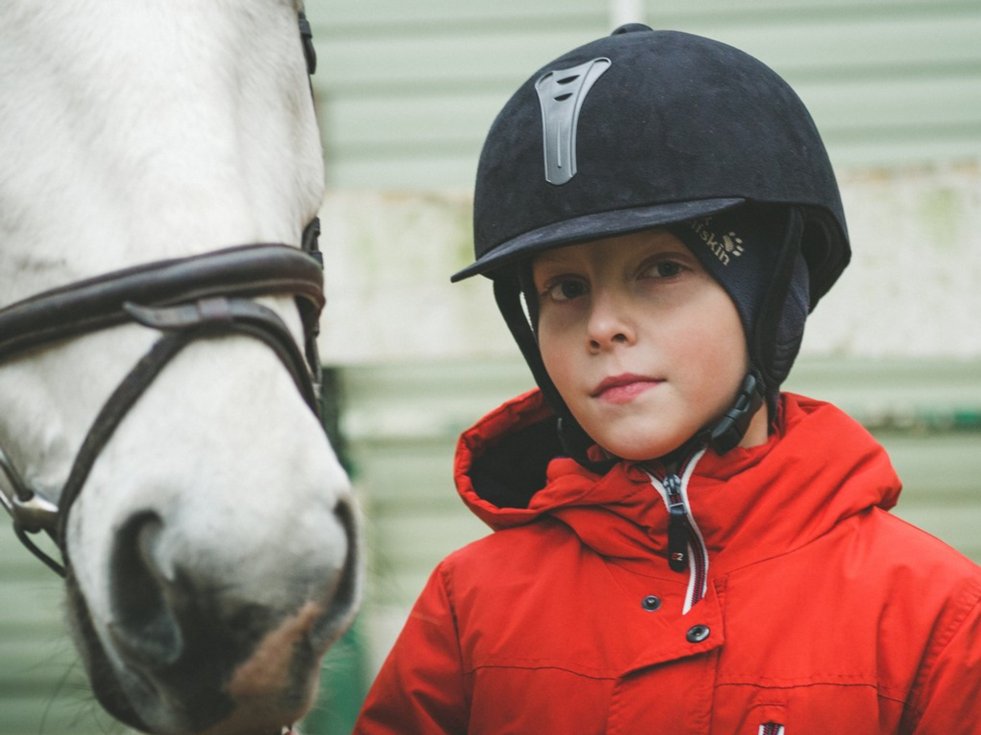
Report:
[[[300,13],[308,73],[316,70],[310,25]],[[81,443],[57,503],[30,488],[0,448],[0,505],[13,517],[18,538],[61,576],[70,564],[67,518],[102,448],[154,377],[191,342],[232,334],[268,345],[292,376],[303,400],[320,417],[319,318],[324,307],[320,221],[310,221],[301,248],[260,243],[204,255],[148,263],[77,281],[0,309],[0,362],[53,342],[125,323],[159,329],[162,336],[129,370],[103,404]],[[283,319],[255,303],[258,296],[292,296],[303,322],[301,352]],[[62,563],[27,534],[47,533]]]

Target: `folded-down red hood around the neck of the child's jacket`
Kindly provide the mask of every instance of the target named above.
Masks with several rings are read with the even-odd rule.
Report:
[[[889,510],[900,480],[886,451],[831,404],[782,394],[776,431],[760,446],[695,461],[688,497],[715,571],[770,558],[841,520]],[[604,556],[665,555],[667,513],[651,476],[659,467],[620,462],[598,475],[562,456],[554,414],[539,391],[520,396],[465,432],[457,490],[494,530],[550,516]],[[730,553],[732,552],[732,553]]]

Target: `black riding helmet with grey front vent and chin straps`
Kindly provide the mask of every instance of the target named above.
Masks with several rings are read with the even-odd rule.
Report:
[[[762,233],[751,270],[737,225]],[[718,41],[633,24],[559,57],[501,110],[477,171],[476,262],[452,276],[493,279],[567,451],[587,466],[594,442],[545,371],[522,285],[537,253],[651,227],[693,250],[747,327],[750,370],[733,409],[690,440],[722,453],[763,400],[772,408],[806,313],[848,265],[845,214],[820,135],[779,75]]]

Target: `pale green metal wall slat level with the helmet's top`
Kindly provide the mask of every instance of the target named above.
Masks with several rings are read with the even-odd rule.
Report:
[[[792,84],[855,78],[981,73],[981,9],[926,17],[887,14],[858,20],[829,17],[800,24],[782,15],[745,26],[700,24],[678,28],[731,43],[756,56]],[[319,96],[410,96],[435,90],[496,91],[503,99],[555,56],[605,30],[534,23],[452,34],[319,38]],[[424,100],[420,103],[423,104]]]

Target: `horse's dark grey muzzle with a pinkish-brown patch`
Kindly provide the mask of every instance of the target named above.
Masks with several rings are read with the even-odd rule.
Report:
[[[269,735],[299,720],[316,697],[324,654],[359,601],[347,501],[336,517],[347,544],[342,564],[284,569],[288,583],[270,580],[278,590],[267,603],[254,592],[236,595],[234,579],[192,576],[168,554],[166,522],[133,515],[112,552],[111,622],[92,623],[70,578],[75,627],[103,707],[160,735]]]

